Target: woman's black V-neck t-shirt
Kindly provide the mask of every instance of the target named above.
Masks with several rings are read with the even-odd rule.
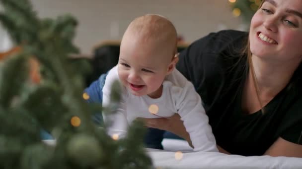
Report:
[[[232,30],[211,33],[182,51],[176,67],[200,94],[217,144],[231,154],[263,155],[279,137],[302,144],[302,66],[264,113],[242,111],[249,69],[240,51],[247,35]]]

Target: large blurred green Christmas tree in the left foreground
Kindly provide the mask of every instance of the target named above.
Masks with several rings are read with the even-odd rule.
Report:
[[[1,169],[149,169],[143,148],[144,127],[134,123],[124,139],[108,136],[91,121],[101,109],[82,99],[86,62],[70,63],[78,52],[72,44],[75,18],[40,19],[28,0],[0,0],[0,21],[19,50],[0,62]],[[41,80],[29,80],[29,60],[36,60]],[[79,71],[81,70],[81,71]],[[33,83],[35,82],[35,83]],[[114,113],[119,84],[112,90]],[[52,131],[56,146],[40,140],[40,130]]]

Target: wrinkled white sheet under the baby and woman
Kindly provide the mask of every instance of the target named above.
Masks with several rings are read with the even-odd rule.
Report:
[[[147,149],[156,167],[167,169],[302,169],[302,158],[237,156],[217,152],[191,152],[185,141],[165,139],[165,150]],[[181,160],[175,151],[183,150]]]

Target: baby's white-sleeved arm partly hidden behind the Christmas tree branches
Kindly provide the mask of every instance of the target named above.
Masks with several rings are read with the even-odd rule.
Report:
[[[118,80],[117,74],[117,66],[112,68],[106,77],[105,84],[103,87],[103,106],[108,106],[110,104],[110,96],[111,96],[111,85],[114,81]],[[113,136],[114,134],[118,134],[118,138],[122,138],[126,136],[127,128],[128,128],[128,121],[126,117],[126,103],[125,97],[126,94],[122,90],[121,94],[121,101],[119,104],[119,108],[117,109],[116,113],[106,115],[103,113],[104,123],[106,126],[106,130],[108,135]]]

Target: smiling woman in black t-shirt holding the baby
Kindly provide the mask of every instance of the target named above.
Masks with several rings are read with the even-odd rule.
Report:
[[[302,157],[302,0],[263,0],[250,25],[193,42],[177,69],[200,94],[221,152]],[[145,121],[190,143],[178,115]]]

